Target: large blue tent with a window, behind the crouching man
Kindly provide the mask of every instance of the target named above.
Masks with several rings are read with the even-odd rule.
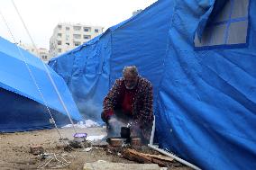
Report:
[[[92,102],[88,116],[99,117],[114,79],[136,65],[153,85],[160,148],[202,169],[254,169],[255,9],[248,0],[159,0],[50,66],[78,108],[87,116],[79,103]]]

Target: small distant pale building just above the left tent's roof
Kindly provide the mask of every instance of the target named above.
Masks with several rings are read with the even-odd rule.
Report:
[[[48,49],[44,49],[44,48],[35,49],[32,45],[27,45],[23,43],[19,43],[18,45],[21,48],[29,51],[36,57],[41,58],[45,63],[47,63],[50,60],[50,54]]]

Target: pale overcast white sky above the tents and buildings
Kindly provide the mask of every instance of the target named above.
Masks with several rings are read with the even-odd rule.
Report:
[[[49,49],[50,36],[59,22],[102,26],[105,30],[130,18],[133,11],[145,9],[157,0],[14,0],[38,48]],[[31,45],[12,0],[0,0],[0,36]],[[5,22],[10,31],[8,31]]]

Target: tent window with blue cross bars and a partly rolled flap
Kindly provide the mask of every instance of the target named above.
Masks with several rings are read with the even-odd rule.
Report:
[[[224,4],[223,9],[207,23],[202,39],[195,36],[196,49],[246,44],[249,1],[229,0]]]

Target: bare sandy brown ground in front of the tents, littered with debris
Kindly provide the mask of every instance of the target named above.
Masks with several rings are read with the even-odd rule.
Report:
[[[73,139],[75,133],[72,128],[59,129],[62,138]],[[86,132],[88,135],[105,135],[103,128],[77,129],[78,132]],[[63,143],[59,141],[57,130],[35,130],[27,132],[0,134],[0,169],[36,169],[45,163],[45,159],[34,156],[30,153],[32,145],[41,145],[45,153],[55,153],[71,162],[69,166],[61,169],[83,169],[85,163],[98,160],[118,163],[134,163],[122,157],[108,154],[104,148],[93,148],[84,151],[83,148],[76,148],[71,152],[63,149]],[[178,167],[174,169],[188,169]]]

